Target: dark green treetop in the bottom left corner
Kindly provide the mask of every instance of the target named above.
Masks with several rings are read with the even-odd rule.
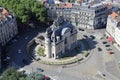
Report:
[[[8,68],[2,74],[0,80],[26,80],[25,76],[20,72],[17,72],[14,68]]]

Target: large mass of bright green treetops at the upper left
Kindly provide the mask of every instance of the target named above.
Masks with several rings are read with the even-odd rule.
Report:
[[[40,22],[47,20],[46,8],[36,0],[0,0],[0,4],[12,10],[17,19],[23,23],[28,23],[30,20]]]

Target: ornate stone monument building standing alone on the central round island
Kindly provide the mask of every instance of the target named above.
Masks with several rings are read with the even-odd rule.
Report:
[[[44,40],[38,39],[36,41],[39,45],[44,46],[46,57],[60,58],[64,56],[66,51],[76,47],[77,30],[69,21],[64,21],[62,17],[59,17],[46,30]]]

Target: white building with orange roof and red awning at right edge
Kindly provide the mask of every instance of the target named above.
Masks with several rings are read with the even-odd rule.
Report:
[[[120,47],[120,12],[113,12],[108,16],[106,35],[110,42]]]

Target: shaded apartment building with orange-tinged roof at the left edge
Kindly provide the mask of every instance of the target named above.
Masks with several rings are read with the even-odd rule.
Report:
[[[12,12],[0,7],[0,43],[4,46],[18,33],[16,18]]]

